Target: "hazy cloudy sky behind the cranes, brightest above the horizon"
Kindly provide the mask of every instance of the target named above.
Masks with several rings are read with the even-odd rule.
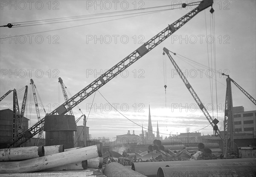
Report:
[[[50,113],[64,103],[58,77],[63,79],[70,98],[169,24],[194,9],[195,6],[182,9],[177,5],[190,2],[195,1],[1,0],[0,25],[22,25],[0,27],[0,95],[15,88],[21,104],[24,87],[28,85],[25,117],[30,119],[29,125],[33,125],[37,122],[37,116],[31,78],[46,112]],[[175,9],[123,15],[125,10],[131,10],[128,12],[131,14],[170,8],[147,9],[166,5],[173,5]],[[134,9],[140,10],[132,11]],[[183,133],[186,128],[190,128],[190,132],[203,128],[200,132],[204,135],[213,133],[211,126],[206,127],[209,122],[169,58],[163,55],[163,47],[179,54],[172,57],[210,115],[220,121],[220,130],[223,130],[227,78],[220,73],[230,75],[256,98],[256,1],[214,0],[213,9],[213,15],[209,12],[210,8],[198,13],[101,87],[99,92],[73,108],[76,119],[81,116],[79,109],[87,116],[92,137],[113,139],[116,135],[126,134],[128,130],[140,134],[142,128],[136,124],[148,127],[149,104],[153,131],[156,131],[158,121],[163,138],[169,134]],[[95,14],[99,13],[108,14],[98,18]],[[81,15],[92,16],[87,20],[66,19],[64,23],[56,23],[60,22],[58,20],[50,24],[26,26],[34,20]],[[115,20],[117,18],[122,19]],[[206,67],[188,63],[184,57]],[[218,73],[211,73],[209,68],[215,68]],[[256,106],[234,84],[232,93],[233,106],[244,106],[245,111],[256,110]],[[44,117],[41,105],[40,115]],[[6,96],[0,106],[1,109],[12,109],[12,94]],[[82,124],[80,120],[78,125]]]

